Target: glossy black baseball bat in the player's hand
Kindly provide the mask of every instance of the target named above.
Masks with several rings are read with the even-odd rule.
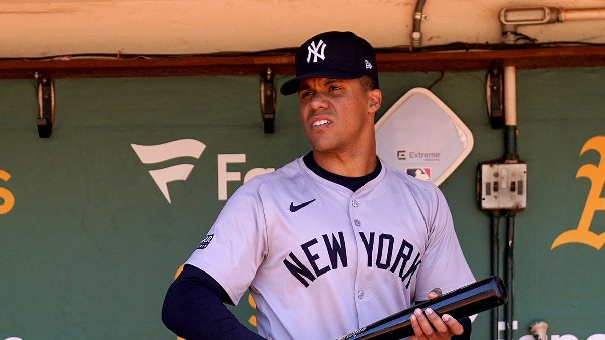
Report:
[[[401,312],[387,316],[338,340],[396,340],[414,335],[410,316],[414,310],[427,308],[434,310],[437,315],[449,314],[454,319],[485,312],[502,306],[508,300],[506,288],[502,279],[497,275],[489,276],[476,283],[452,290],[433,300],[425,301]]]

